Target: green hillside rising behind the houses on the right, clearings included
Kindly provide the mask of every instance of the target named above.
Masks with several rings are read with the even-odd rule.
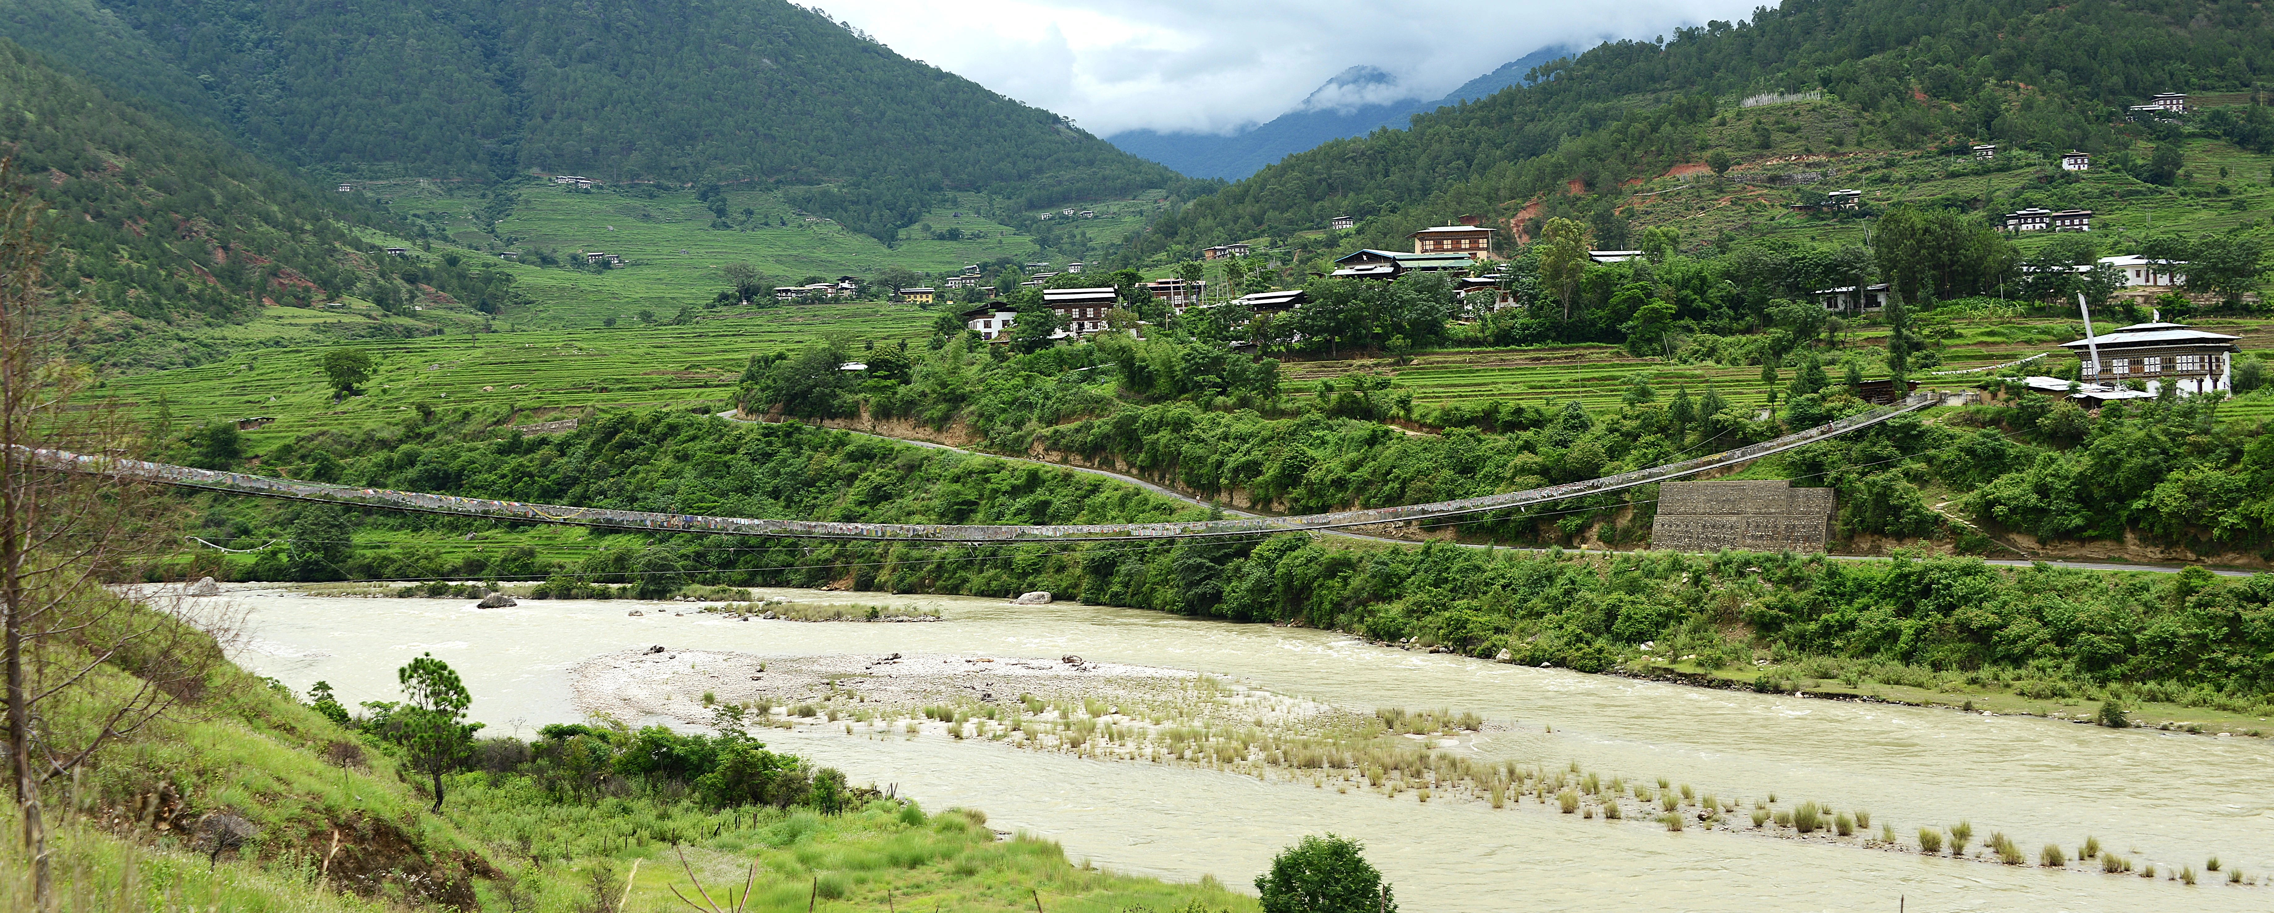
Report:
[[[2031,152],[2038,159],[2026,161],[2033,164],[2076,148],[2099,154],[2103,175],[2149,177],[2169,193],[2219,193],[2219,182],[2233,191],[2242,179],[2263,184],[2265,164],[2254,159],[2244,170],[2213,177],[2213,159],[2222,152],[2199,141],[2267,150],[2265,114],[2254,114],[2256,107],[2213,111],[2172,127],[2126,120],[2126,107],[2160,91],[2197,93],[2197,104],[2249,104],[2251,73],[2269,59],[2274,30],[2256,7],[1792,0],[1753,20],[1678,30],[1665,43],[1605,43],[1542,66],[1537,84],[1417,116],[1412,129],[1287,157],[1164,218],[1126,257],[1187,259],[1198,248],[1244,238],[1292,245],[1296,259],[1348,245],[1405,248],[1414,227],[1462,213],[1489,216],[1510,229],[1537,229],[1535,218],[1578,216],[1603,248],[1624,248],[1630,229],[1646,223],[1630,223],[1628,207],[1658,191],[1635,182],[1680,166],[1706,170],[1712,152],[1756,168],[1824,157],[1835,173],[1849,175],[1858,170],[1849,168],[1856,152],[1910,157],[1917,161],[1881,177],[1915,191],[1908,198],[1974,209],[2006,204],[2012,195],[1985,198],[1985,184],[1965,166],[1956,175],[1931,168],[1972,143]],[[1808,111],[1744,107],[1778,93],[1819,93],[1824,102]],[[2190,164],[2210,168],[2153,173],[2151,159],[2163,143],[2188,145]],[[1942,177],[1974,182],[1931,186]],[[1849,184],[1806,175],[1781,186],[1821,193]],[[2140,186],[2122,195],[2083,193],[2078,202],[2131,216],[2138,207],[2131,195],[2144,195]],[[1344,213],[1360,216],[1355,234],[1301,236]],[[1758,225],[1762,216],[1771,213],[1756,207],[1742,218],[1708,220],[1708,229],[1685,229],[1685,238],[1769,229]],[[1517,232],[1503,232],[1501,241],[1512,245]]]

